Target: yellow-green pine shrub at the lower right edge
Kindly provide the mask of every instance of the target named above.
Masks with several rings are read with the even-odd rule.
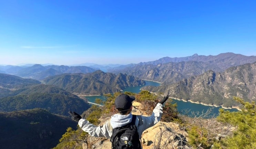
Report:
[[[242,111],[229,112],[219,110],[218,121],[237,127],[233,136],[222,140],[223,148],[227,149],[252,149],[256,148],[256,116],[255,103],[244,102],[243,99],[234,97],[243,105]]]

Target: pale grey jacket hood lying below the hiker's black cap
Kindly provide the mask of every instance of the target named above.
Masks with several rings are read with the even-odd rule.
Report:
[[[111,116],[110,124],[113,129],[125,126],[132,122],[132,113],[128,115],[115,114]]]

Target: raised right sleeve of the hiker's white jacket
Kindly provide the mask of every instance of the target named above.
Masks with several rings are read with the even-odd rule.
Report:
[[[156,107],[153,110],[151,116],[142,116],[143,124],[138,126],[138,133],[141,136],[143,131],[147,128],[154,126],[158,123],[163,115],[163,105],[161,103],[157,103]]]

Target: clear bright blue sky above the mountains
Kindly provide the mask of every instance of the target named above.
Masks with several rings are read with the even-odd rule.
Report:
[[[0,65],[256,56],[255,8],[255,0],[0,0]]]

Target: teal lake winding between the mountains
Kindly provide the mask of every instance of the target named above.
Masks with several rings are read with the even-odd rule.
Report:
[[[160,83],[157,83],[157,82],[154,82],[154,81],[147,81],[145,80],[146,84],[145,85],[141,85],[141,86],[137,86],[137,87],[128,87],[128,88],[125,88],[123,90],[123,92],[127,91],[127,92],[133,92],[133,93],[139,93],[141,90],[142,87],[144,86],[147,86],[147,85],[151,85],[151,86],[159,86]],[[88,99],[89,102],[94,102],[96,98],[99,98],[99,99],[102,99],[102,100],[105,100],[104,99],[104,96],[86,96],[86,98]],[[220,106],[219,107],[215,107],[215,106],[207,106],[207,105],[202,105],[202,104],[196,104],[196,103],[192,103],[192,102],[184,102],[184,101],[181,101],[181,100],[176,100],[176,99],[173,99],[173,103],[177,103],[177,110],[179,113],[181,114],[188,114],[190,116],[191,112],[199,112],[199,113],[202,113],[202,112],[206,112],[208,109],[211,108],[211,115],[215,114],[216,116],[218,115],[218,111],[219,111],[219,108],[221,108]],[[235,108],[232,108],[232,109],[226,109],[228,111],[238,111],[237,109]],[[184,113],[185,111],[190,111],[189,113]]]

